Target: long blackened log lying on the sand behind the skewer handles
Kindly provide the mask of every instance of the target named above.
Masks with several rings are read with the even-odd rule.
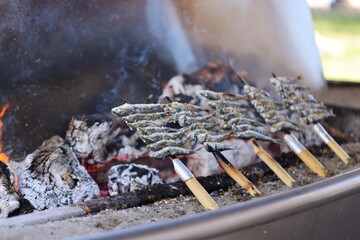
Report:
[[[311,148],[310,148],[311,149]],[[277,158],[283,167],[298,166],[301,161],[297,159],[294,153],[282,154]],[[263,162],[242,168],[241,171],[251,182],[274,181],[278,177],[273,171]],[[208,177],[197,178],[200,184],[209,192],[217,190],[227,190],[235,184],[226,174],[217,174]],[[89,214],[94,214],[105,209],[125,209],[130,207],[137,207],[145,204],[150,204],[165,198],[175,198],[180,195],[190,195],[191,192],[183,182],[175,182],[170,184],[156,184],[145,187],[141,190],[128,192],[117,196],[108,198],[95,199],[79,203],[85,211]]]

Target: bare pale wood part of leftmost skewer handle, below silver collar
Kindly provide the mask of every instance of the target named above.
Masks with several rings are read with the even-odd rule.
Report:
[[[199,200],[201,205],[207,210],[219,209],[219,205],[212,199],[209,193],[201,186],[196,178],[189,178],[185,181],[185,184]]]

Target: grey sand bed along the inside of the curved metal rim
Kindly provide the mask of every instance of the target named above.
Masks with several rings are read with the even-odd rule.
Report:
[[[330,175],[342,174],[344,172],[359,168],[360,166],[360,143],[346,143],[342,147],[349,153],[351,161],[348,165],[341,162],[338,157],[324,144],[310,148],[314,155],[329,170]],[[296,186],[303,186],[322,180],[323,178],[313,174],[293,153],[282,154],[279,162],[287,158],[295,159],[293,165],[287,168],[288,172],[296,180]],[[264,196],[277,192],[287,191],[286,187],[272,173],[264,170],[263,163],[250,166],[253,175],[256,173],[256,182],[259,190]],[[245,169],[245,170],[246,170]],[[251,201],[251,197],[238,185],[228,190],[218,190],[211,194],[215,201],[221,206],[230,206],[243,201]],[[203,207],[192,196],[180,196],[174,199],[164,199],[153,204],[124,210],[105,210],[96,215],[88,217],[71,218],[64,221],[28,226],[22,228],[3,228],[0,230],[3,239],[59,239],[80,235],[104,232],[112,229],[123,229],[143,224],[166,221],[185,215],[203,212]],[[81,231],[79,231],[81,229]],[[39,236],[37,233],[42,232]]]

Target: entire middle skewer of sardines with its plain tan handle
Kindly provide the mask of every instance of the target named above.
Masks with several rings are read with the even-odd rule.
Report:
[[[251,111],[247,102],[244,101],[244,95],[227,92],[218,93],[208,90],[201,91],[200,94],[206,97],[209,100],[208,104],[216,110],[223,129],[231,130],[235,138],[250,139],[256,155],[287,186],[291,187],[294,184],[295,180],[256,142],[256,140],[271,142],[275,140],[264,135],[264,124],[255,118],[255,113]]]

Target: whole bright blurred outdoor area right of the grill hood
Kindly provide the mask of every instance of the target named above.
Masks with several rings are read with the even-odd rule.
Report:
[[[360,82],[360,1],[308,0],[328,81]]]

